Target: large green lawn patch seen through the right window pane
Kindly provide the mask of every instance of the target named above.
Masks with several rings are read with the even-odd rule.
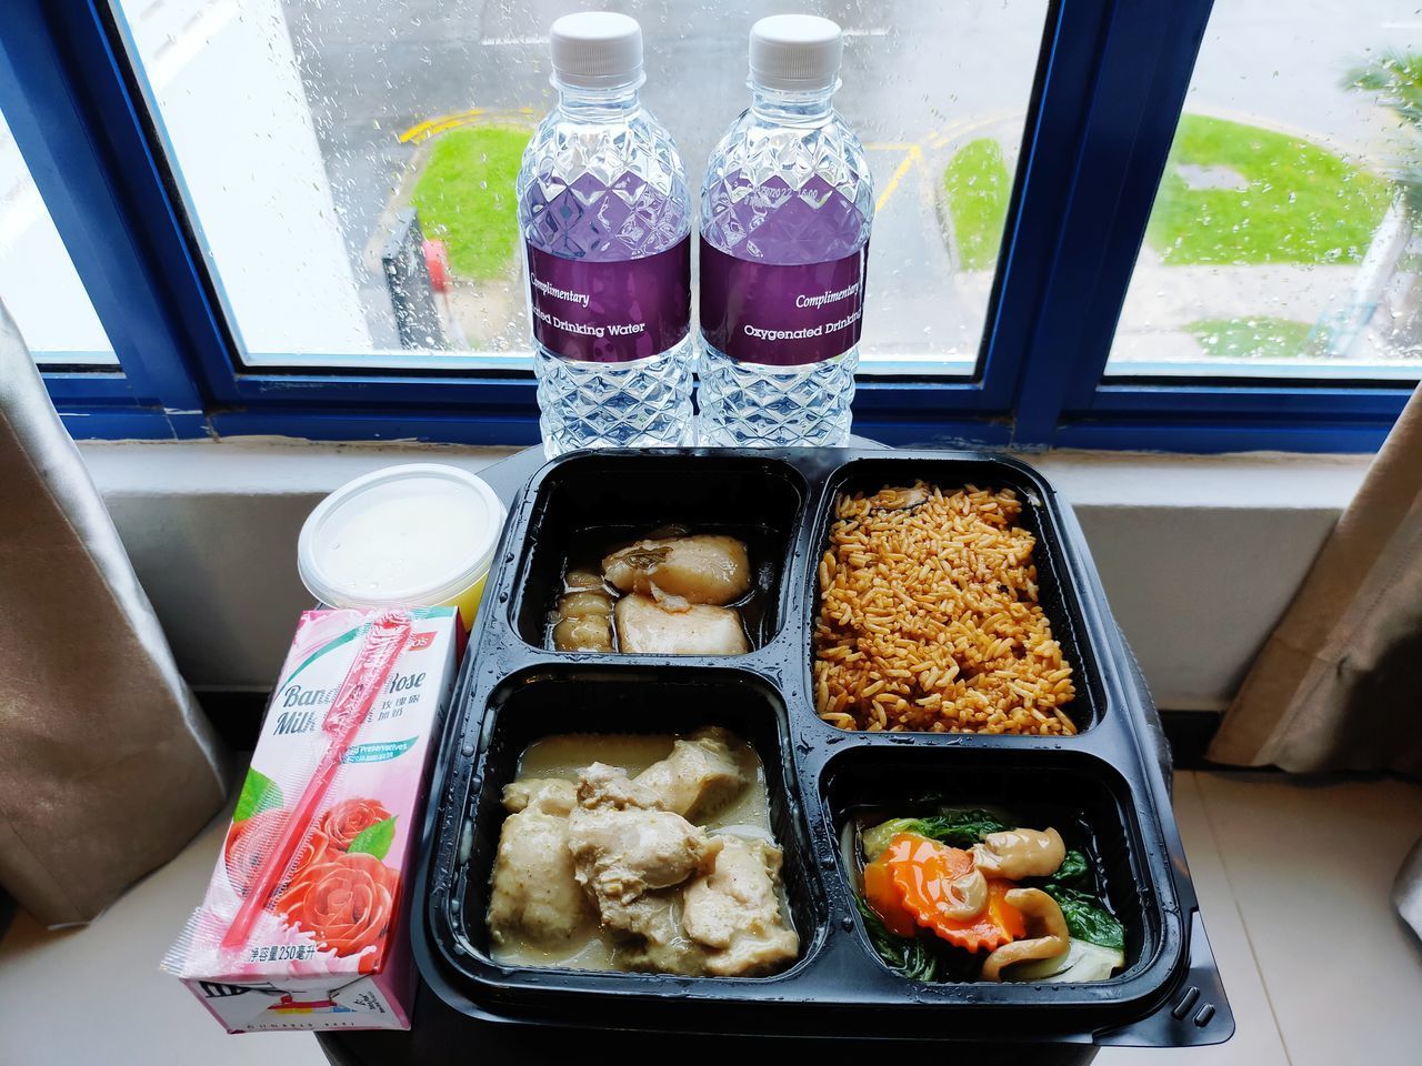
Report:
[[[1229,166],[1244,189],[1190,189],[1179,163]],[[1146,240],[1172,266],[1358,263],[1388,209],[1388,182],[1285,134],[1186,115]]]

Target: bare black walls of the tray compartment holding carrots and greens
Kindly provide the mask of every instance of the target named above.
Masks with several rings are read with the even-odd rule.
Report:
[[[1011,812],[1031,829],[1054,826],[1068,849],[1081,849],[1094,857],[1102,880],[1098,894],[1125,927],[1126,967],[1109,981],[1042,988],[1085,989],[1094,994],[1092,999],[1109,998],[1109,989],[1143,974],[1155,962],[1167,918],[1156,894],[1142,888],[1152,883],[1153,871],[1145,857],[1130,786],[1103,759],[1039,748],[860,748],[836,755],[825,768],[822,782],[823,813],[836,840],[845,823],[859,812],[887,819],[930,814],[937,804],[988,806]],[[855,871],[846,870],[843,861],[830,891],[843,891],[850,898],[856,891]],[[916,985],[883,964],[857,912],[855,921],[863,951],[896,981]],[[990,999],[1041,999],[1039,992],[1027,995],[1034,992],[1027,984],[970,984]]]

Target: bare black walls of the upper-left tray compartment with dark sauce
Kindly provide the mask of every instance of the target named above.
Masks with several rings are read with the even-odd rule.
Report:
[[[747,543],[757,594],[742,608],[752,648],[779,632],[785,574],[808,489],[789,463],[745,455],[586,453],[549,468],[520,537],[512,584],[515,631],[547,648],[555,607],[570,554],[599,554],[617,540],[681,524],[695,533],[727,533]]]

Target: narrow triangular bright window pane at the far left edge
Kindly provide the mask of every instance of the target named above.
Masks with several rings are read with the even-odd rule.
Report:
[[[40,367],[114,370],[114,345],[0,115],[0,301]]]

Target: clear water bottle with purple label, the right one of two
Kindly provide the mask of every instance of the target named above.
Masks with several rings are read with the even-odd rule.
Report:
[[[875,195],[830,104],[839,26],[784,14],[751,28],[751,108],[701,188],[701,439],[849,438]]]

